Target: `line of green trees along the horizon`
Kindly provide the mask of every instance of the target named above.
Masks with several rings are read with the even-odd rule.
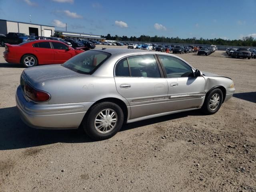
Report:
[[[181,43],[181,44],[213,44],[213,45],[224,45],[224,46],[250,46],[256,47],[256,38],[243,37],[239,40],[224,40],[221,38],[214,39],[197,39],[197,38],[186,38],[181,39],[179,37],[164,37],[164,36],[154,36],[150,37],[148,35],[141,35],[140,37],[131,36],[128,38],[127,36],[111,36],[107,34],[106,36],[101,36],[102,38],[106,38],[106,40],[116,40],[116,41],[135,41],[135,42],[158,42],[158,43]]]

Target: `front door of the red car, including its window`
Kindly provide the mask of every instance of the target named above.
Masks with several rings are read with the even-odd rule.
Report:
[[[75,55],[74,50],[69,50],[66,44],[61,42],[51,42],[54,52],[54,64],[62,64]]]

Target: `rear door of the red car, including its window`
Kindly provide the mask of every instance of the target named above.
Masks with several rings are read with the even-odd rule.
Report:
[[[33,51],[38,58],[38,64],[54,64],[54,52],[50,42],[34,43]]]

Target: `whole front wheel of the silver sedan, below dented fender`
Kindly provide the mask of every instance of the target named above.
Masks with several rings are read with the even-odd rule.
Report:
[[[211,90],[204,100],[204,104],[202,106],[202,112],[207,115],[211,115],[216,113],[222,104],[223,93],[219,88]]]

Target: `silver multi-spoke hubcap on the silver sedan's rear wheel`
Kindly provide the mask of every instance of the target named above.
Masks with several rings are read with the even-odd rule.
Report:
[[[104,109],[98,113],[94,120],[94,128],[99,133],[108,133],[112,131],[117,123],[117,114],[112,109]]]

